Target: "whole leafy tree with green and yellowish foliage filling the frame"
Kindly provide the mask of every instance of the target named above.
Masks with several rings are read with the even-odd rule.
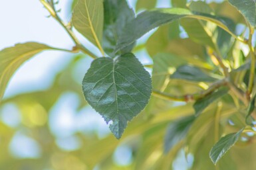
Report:
[[[6,146],[15,130],[1,123],[7,155],[0,159],[1,169],[176,169],[182,157],[188,159],[187,169],[254,169],[255,1],[172,0],[172,8],[154,8],[157,1],[138,0],[135,15],[126,0],[78,0],[67,24],[56,2],[41,3],[75,46],[66,50],[27,42],[3,49],[0,98],[17,68],[43,50],[82,52],[94,61],[84,75],[82,91],[70,83],[70,70],[80,61],[76,56],[47,92],[1,100],[2,106],[15,103],[24,112],[24,120],[33,127],[31,136],[43,148],[43,161],[21,159],[9,166],[15,159]],[[138,13],[142,9],[147,10]],[[74,29],[101,56],[86,48]],[[150,30],[148,40],[136,44]],[[137,59],[142,51],[152,65]],[[152,69],[152,76],[145,67]],[[63,84],[61,76],[67,79]],[[120,140],[77,133],[80,149],[68,153],[57,148],[46,124],[23,108],[30,105],[47,115],[66,90],[80,94],[79,99],[83,93],[86,101],[79,107],[92,106]],[[134,159],[126,167],[110,157],[120,148],[128,149]]]

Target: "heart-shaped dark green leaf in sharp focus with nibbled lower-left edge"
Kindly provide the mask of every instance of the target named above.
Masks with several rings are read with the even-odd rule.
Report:
[[[82,90],[86,101],[99,112],[110,130],[120,138],[127,122],[144,109],[150,99],[150,74],[133,54],[116,60],[98,58],[84,75]]]

